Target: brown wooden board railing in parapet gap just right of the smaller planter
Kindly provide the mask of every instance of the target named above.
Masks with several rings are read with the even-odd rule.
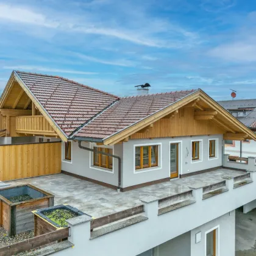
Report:
[[[123,210],[121,212],[112,213],[101,218],[93,219],[91,221],[91,230],[95,229],[96,227],[101,227],[112,222],[119,221],[120,219],[128,218],[140,213],[144,213],[144,205],[138,205],[136,207]]]

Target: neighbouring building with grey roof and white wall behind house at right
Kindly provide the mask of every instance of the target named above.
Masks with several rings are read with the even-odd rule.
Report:
[[[253,132],[256,131],[256,99],[234,99],[218,103]],[[256,141],[248,138],[243,141],[226,140],[225,152],[236,157],[255,157]]]

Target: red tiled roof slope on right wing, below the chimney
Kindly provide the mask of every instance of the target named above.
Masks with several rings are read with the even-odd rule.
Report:
[[[86,124],[74,137],[104,139],[131,124],[140,121],[158,110],[185,98],[196,90],[172,91],[169,93],[148,94],[121,98],[111,107]]]

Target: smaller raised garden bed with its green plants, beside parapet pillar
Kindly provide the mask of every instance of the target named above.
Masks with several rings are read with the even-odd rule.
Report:
[[[35,210],[33,213],[35,216],[35,236],[68,227],[66,219],[85,215],[77,208],[63,204]]]

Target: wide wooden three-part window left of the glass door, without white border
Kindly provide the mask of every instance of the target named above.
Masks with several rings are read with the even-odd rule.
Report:
[[[158,166],[158,146],[135,147],[135,168],[144,169]]]

